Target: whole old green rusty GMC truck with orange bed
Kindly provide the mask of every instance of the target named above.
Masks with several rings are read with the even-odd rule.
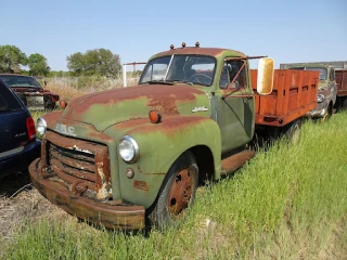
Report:
[[[300,118],[317,105],[319,73],[274,72],[268,57],[250,72],[250,58],[259,57],[171,46],[149,60],[138,86],[83,95],[44,115],[33,184],[94,224],[177,226],[198,183],[256,154],[247,148],[256,126],[297,138]]]

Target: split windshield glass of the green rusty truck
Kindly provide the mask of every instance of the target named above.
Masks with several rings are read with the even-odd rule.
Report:
[[[145,66],[139,83],[187,82],[211,86],[216,60],[207,55],[162,56],[153,58]]]

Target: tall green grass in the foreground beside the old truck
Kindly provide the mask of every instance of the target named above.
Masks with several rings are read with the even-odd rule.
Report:
[[[346,259],[347,113],[303,126],[234,176],[200,187],[178,230],[98,230],[27,220],[4,259]]]

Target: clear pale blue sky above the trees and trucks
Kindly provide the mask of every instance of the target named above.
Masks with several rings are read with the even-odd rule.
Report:
[[[40,53],[52,70],[76,52],[146,62],[183,41],[268,55],[275,67],[347,61],[347,0],[0,0],[0,46]]]

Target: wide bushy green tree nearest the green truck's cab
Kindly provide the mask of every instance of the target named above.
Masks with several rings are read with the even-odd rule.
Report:
[[[66,57],[67,68],[75,75],[101,75],[116,77],[121,69],[120,57],[106,49],[76,52]]]

